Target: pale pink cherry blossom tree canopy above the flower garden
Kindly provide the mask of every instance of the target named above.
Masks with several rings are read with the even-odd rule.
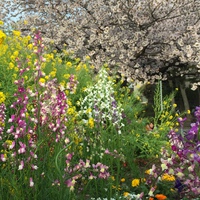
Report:
[[[2,0],[15,28],[40,28],[98,68],[107,63],[133,80],[193,76],[200,85],[199,0]],[[24,21],[25,20],[25,21]]]

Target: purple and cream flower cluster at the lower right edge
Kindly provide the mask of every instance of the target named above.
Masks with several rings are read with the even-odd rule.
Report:
[[[173,175],[176,178],[174,187],[179,198],[192,199],[200,195],[200,107],[196,107],[194,115],[196,122],[191,123],[191,128],[187,132],[169,132],[172,152],[162,148],[161,168],[153,165],[150,169],[150,175],[156,181],[159,181],[162,173]],[[180,121],[182,129],[185,119],[179,119]]]

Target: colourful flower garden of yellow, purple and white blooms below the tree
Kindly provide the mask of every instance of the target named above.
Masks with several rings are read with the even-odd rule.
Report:
[[[1,199],[198,199],[200,106],[184,131],[156,87],[147,117],[109,66],[0,26]]]

